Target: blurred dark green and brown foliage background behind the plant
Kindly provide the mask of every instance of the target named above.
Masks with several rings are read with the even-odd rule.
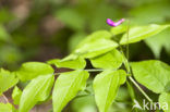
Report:
[[[170,24],[170,0],[0,0],[0,66],[13,71],[23,62],[63,58],[90,33],[109,30],[106,18],[122,17],[130,20],[130,26]],[[160,59],[170,64],[169,36],[166,29],[131,45],[130,60]],[[126,91],[121,94],[125,99]],[[71,108],[96,112],[94,103],[87,96],[74,100]],[[89,110],[83,111],[86,104]],[[114,107],[123,109],[122,103]],[[130,111],[124,109],[120,112]]]

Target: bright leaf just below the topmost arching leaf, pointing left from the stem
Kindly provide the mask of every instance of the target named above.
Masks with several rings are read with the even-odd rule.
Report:
[[[94,58],[108,51],[111,51],[117,47],[117,42],[101,38],[95,41],[89,41],[84,46],[81,46],[78,49],[75,50],[75,53],[82,54],[84,58]]]

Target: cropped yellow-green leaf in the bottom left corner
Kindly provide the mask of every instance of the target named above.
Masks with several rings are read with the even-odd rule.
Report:
[[[14,112],[14,110],[11,103],[0,103],[0,112]]]

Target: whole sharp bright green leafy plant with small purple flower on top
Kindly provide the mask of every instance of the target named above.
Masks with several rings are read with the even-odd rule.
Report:
[[[1,69],[0,95],[3,96],[7,103],[0,103],[0,112],[28,112],[38,102],[51,98],[53,112],[61,112],[80,91],[86,90],[86,80],[92,72],[98,73],[93,80],[93,89],[99,112],[108,112],[120,86],[125,82],[129,84],[129,80],[149,102],[153,100],[138,83],[153,92],[159,94],[160,103],[170,104],[168,88],[170,86],[170,66],[159,60],[129,62],[127,55],[122,50],[124,46],[151,37],[170,25],[151,24],[129,28],[120,25],[122,22],[124,20],[117,23],[107,20],[107,23],[113,26],[111,30],[98,30],[87,36],[64,59],[53,59],[46,63],[26,62],[14,72]],[[122,37],[119,39],[117,35],[120,34]],[[90,61],[94,69],[86,69],[86,60]],[[72,71],[54,73],[51,65]],[[16,86],[20,82],[28,82],[23,90]],[[3,95],[12,87],[14,87],[13,103],[19,104],[19,109],[15,109]],[[163,107],[160,108],[163,110]],[[170,112],[170,110],[165,111]]]

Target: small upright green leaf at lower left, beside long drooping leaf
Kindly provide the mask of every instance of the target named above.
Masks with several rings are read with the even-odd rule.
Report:
[[[21,96],[22,96],[22,90],[17,86],[15,86],[15,88],[13,89],[13,92],[12,92],[12,99],[13,99],[14,104],[20,103]]]

